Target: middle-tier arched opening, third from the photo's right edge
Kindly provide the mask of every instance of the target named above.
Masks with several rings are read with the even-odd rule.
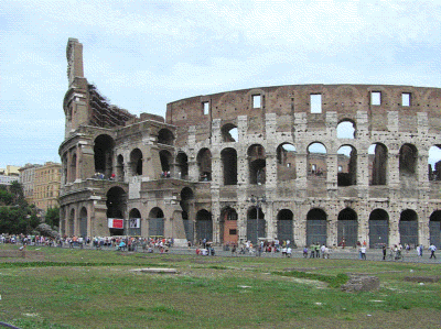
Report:
[[[367,151],[369,162],[369,185],[386,185],[387,147],[384,144],[372,144]]]

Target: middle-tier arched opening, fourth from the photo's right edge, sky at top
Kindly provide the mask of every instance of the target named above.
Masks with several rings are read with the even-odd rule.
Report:
[[[357,184],[357,150],[352,145],[343,145],[337,151],[337,185]]]

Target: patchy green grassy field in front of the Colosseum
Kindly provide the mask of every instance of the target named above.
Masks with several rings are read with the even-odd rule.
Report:
[[[439,264],[40,252],[0,259],[0,321],[20,328],[441,328],[441,283],[405,281],[440,275]],[[141,267],[179,273],[130,271]],[[376,275],[380,288],[342,292],[348,273]]]

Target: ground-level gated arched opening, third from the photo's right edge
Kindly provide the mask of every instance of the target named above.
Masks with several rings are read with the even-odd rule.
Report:
[[[383,209],[375,209],[369,216],[369,248],[384,245],[389,245],[389,215]]]

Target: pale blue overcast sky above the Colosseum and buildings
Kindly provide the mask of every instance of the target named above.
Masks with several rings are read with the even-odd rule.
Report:
[[[66,44],[131,113],[294,84],[441,87],[441,1],[0,2],[0,167],[60,163]]]

